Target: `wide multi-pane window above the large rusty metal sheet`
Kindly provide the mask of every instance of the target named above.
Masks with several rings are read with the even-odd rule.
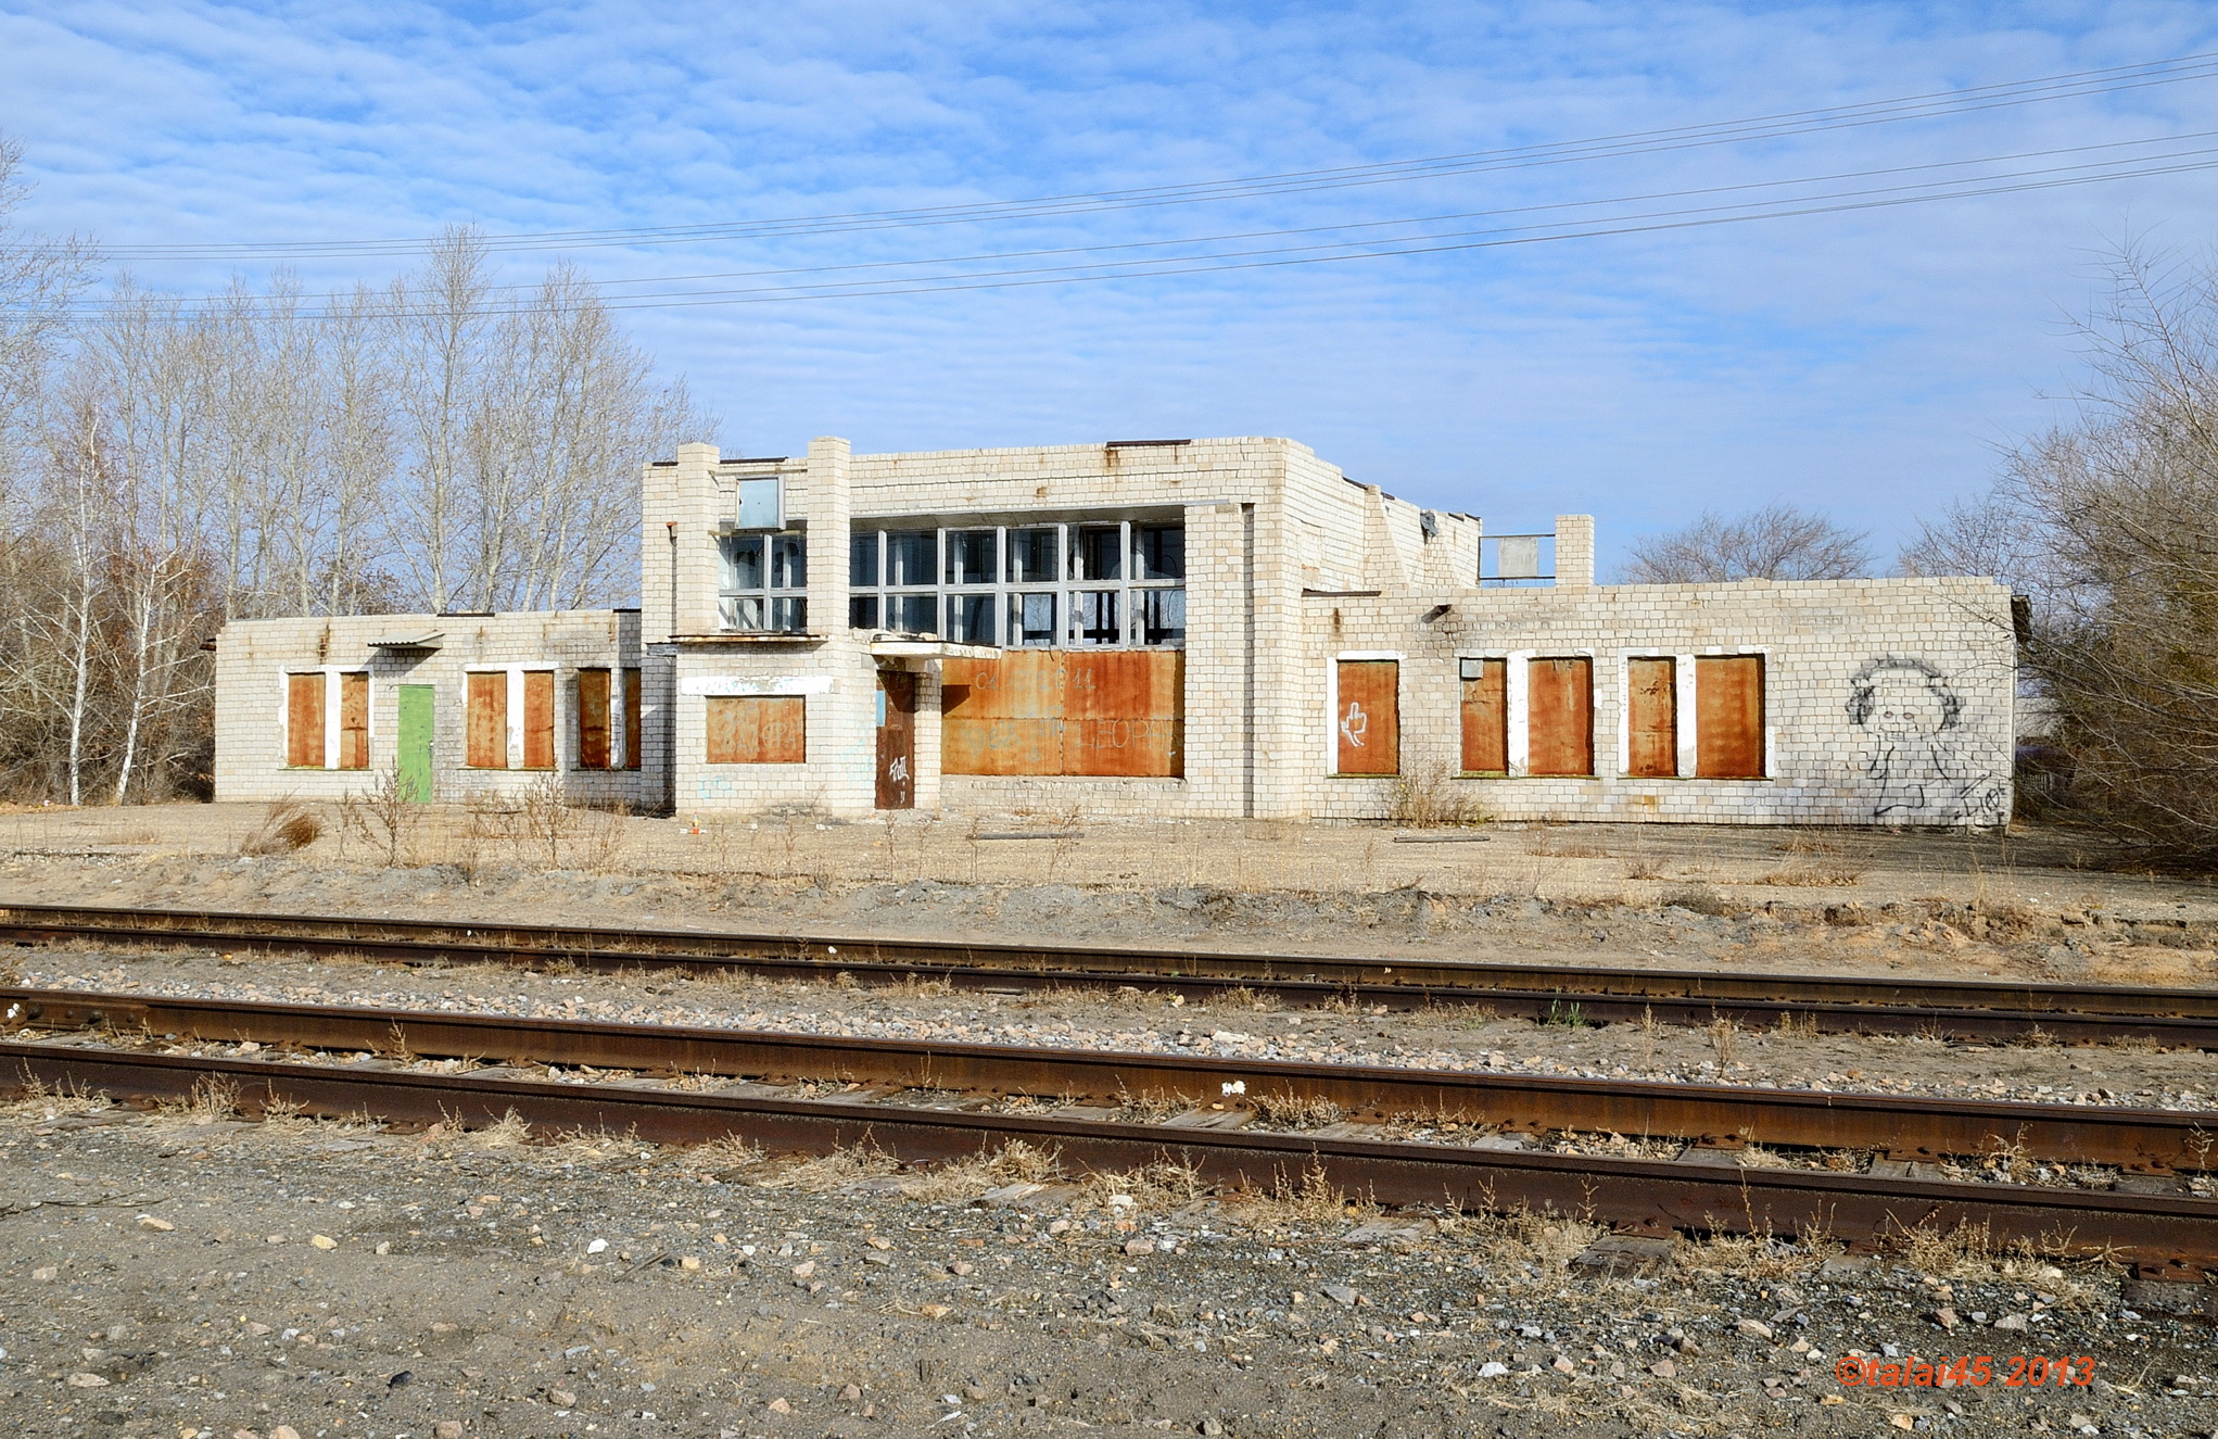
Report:
[[[1187,643],[1184,525],[858,528],[852,543],[856,630],[1042,650]]]

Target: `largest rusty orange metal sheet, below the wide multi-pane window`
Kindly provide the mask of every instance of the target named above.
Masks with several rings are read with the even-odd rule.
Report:
[[[1184,650],[1011,650],[943,676],[943,774],[1187,772]]]

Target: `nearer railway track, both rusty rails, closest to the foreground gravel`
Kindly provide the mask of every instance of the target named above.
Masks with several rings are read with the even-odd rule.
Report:
[[[2049,1146],[2061,1162],[2112,1155],[2163,1180],[2174,1164],[2205,1166],[2209,1146],[2198,1115],[2107,1111],[2058,1104],[1921,1104],[1876,1095],[1817,1095],[1726,1086],[1566,1084],[1515,1075],[1262,1064],[1176,1055],[1118,1055],[1003,1047],[903,1044],[823,1035],[761,1035],[716,1029],[659,1029],[510,1020],[388,1009],[328,1009],[7,991],[16,1024],[53,1027],[53,1038],[0,1042],[0,1071],[16,1082],[75,1084],[126,1100],[193,1093],[228,1082],[248,1111],[286,1102],[319,1115],[401,1124],[490,1124],[517,1113],[535,1129],[632,1131],[661,1142],[743,1135],[772,1151],[867,1144],[903,1162],[945,1162],[1014,1140],[1058,1151],[1065,1164],[1116,1171],[1173,1160],[1224,1188],[1300,1188],[1322,1177],[1384,1204],[1510,1208],[1530,1204],[1581,1213],[1635,1233],[1823,1233],[1876,1244],[1919,1226],[1985,1226],[1992,1239],[2025,1239],[2045,1253],[2103,1253],[2131,1262],[2143,1277],[2194,1279],[2218,1268],[2218,1200],[2187,1193],[2047,1188],[1950,1182],[1903,1173],[1834,1173],[1739,1164],[1730,1146],[1754,1133],[1843,1133],[1881,1140],[1901,1155],[1950,1153],[1974,1137]],[[255,1040],[282,1058],[153,1053],[95,1042],[73,1031],[104,1024],[177,1038]],[[166,1029],[164,1029],[166,1027]],[[395,1062],[311,1062],[304,1051],[441,1049],[512,1060],[503,1069],[428,1073]],[[590,1058],[588,1058],[590,1055]],[[521,1062],[650,1069],[674,1080],[574,1082],[519,1073]],[[721,1091],[694,1075],[732,1075]],[[805,1093],[798,1080],[843,1093]],[[1240,1089],[1229,1089],[1240,1084]],[[996,1111],[1009,1093],[1054,1095],[1051,1113]],[[1131,1122],[1085,1098],[1147,1095],[1193,1104],[1162,1122]],[[1233,1100],[1238,1095],[1238,1100]],[[1357,1124],[1275,1133],[1242,1124],[1269,1095],[1344,1095],[1362,1111],[1428,1115],[1495,1133],[1435,1133],[1426,1140],[1366,1137]],[[1224,1109],[1202,1106],[1209,1098]],[[907,1102],[905,1102],[907,1100]],[[1227,1100],[1233,1100],[1227,1104]],[[1612,1109],[1615,1106],[1615,1109]],[[1508,1142],[1497,1115],[1577,1129],[1597,1115],[1670,1115],[1699,1129],[1719,1113],[1737,1122],[1695,1135],[1677,1160],[1624,1160],[1548,1153]],[[1965,1115],[1965,1117],[1952,1117]],[[1635,1124],[1619,1131],[1641,1133]],[[1661,1133],[1650,1124],[1648,1133]],[[2125,1155],[2136,1155],[2127,1160]]]

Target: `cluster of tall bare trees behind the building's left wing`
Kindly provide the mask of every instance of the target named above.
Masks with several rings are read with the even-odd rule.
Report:
[[[450,231],[401,282],[279,273],[180,302],[7,228],[0,142],[0,778],[204,783],[226,619],[637,594],[639,463],[712,428],[568,266],[495,284]]]

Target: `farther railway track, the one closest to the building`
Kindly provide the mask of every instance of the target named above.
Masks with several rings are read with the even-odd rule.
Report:
[[[1484,1004],[1495,1013],[1577,1024],[1655,1020],[1834,1033],[1932,1033],[1954,1040],[2047,1035],[2061,1042],[2147,1040],[2218,1049],[2218,991],[2005,980],[1892,980],[1690,969],[1559,967],[1453,960],[1213,953],[1107,945],[989,945],[849,936],[470,925],[193,909],[0,907],[16,945],[89,940],[211,949],[353,953],[406,965],[481,962],[577,969],[743,971],[765,978],[898,984],[945,980],[971,991],[1144,987],[1209,1000],[1233,991],[1289,1004],[1388,1009]]]

